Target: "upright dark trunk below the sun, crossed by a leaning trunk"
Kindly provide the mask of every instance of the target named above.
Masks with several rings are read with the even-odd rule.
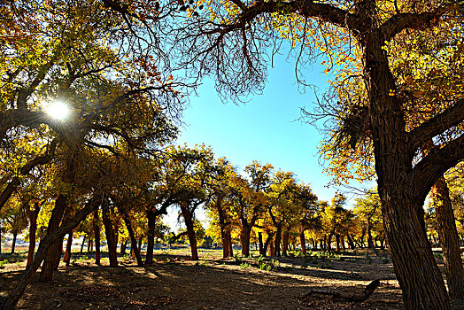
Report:
[[[47,235],[55,232],[58,227],[63,214],[65,213],[67,205],[67,198],[65,195],[60,194],[55,201],[55,208],[51,212],[49,226],[47,227]],[[55,244],[48,249],[47,256],[43,261],[42,271],[40,275],[40,282],[49,282],[53,279],[53,271],[58,267],[63,251],[63,237],[58,239]]]

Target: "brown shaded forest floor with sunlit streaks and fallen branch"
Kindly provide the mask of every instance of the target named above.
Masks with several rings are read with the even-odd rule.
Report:
[[[220,259],[220,250],[156,251],[156,263],[137,267],[129,256],[120,267],[97,267],[92,255],[73,253],[70,267],[58,268],[53,282],[35,277],[19,309],[402,309],[401,291],[388,252],[367,250],[280,258]],[[5,256],[0,256],[0,263]],[[443,261],[437,262],[443,269]],[[7,296],[25,262],[18,256],[0,265],[0,297]],[[105,267],[106,265],[106,267]],[[312,289],[357,294],[371,281],[380,285],[362,303],[337,300]],[[460,305],[455,304],[455,309]],[[464,309],[464,306],[462,307]]]

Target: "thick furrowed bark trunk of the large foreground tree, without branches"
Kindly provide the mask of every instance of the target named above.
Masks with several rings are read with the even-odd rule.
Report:
[[[365,4],[366,22],[375,29],[377,20],[370,17],[376,15],[375,3]],[[406,309],[450,309],[445,283],[422,229],[423,219],[418,216],[427,195],[418,189],[426,182],[426,176],[412,174],[416,150],[408,142],[400,99],[389,96],[397,86],[383,50],[384,34],[372,31],[359,39],[363,47],[363,79],[367,85],[383,226]]]

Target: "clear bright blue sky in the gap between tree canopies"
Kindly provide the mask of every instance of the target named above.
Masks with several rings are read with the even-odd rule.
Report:
[[[305,80],[317,87],[319,95],[328,88],[324,68],[317,63],[305,72]],[[321,133],[297,120],[300,107],[313,108],[315,96],[312,89],[298,91],[294,62],[287,62],[285,55],[276,57],[263,95],[251,97],[245,105],[223,104],[208,79],[197,92],[184,112],[187,125],[178,143],[211,145],[217,158],[226,157],[239,168],[258,160],[293,171],[298,181],[311,185],[320,200],[333,198],[336,189],[326,187],[329,176],[322,172],[317,149]],[[171,212],[165,221],[174,228],[176,214]]]

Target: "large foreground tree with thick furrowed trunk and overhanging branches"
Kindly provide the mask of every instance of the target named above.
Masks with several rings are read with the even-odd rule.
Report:
[[[352,116],[366,120],[362,123],[366,126],[347,137],[352,137],[352,144],[356,145],[356,134],[366,132],[372,141],[383,225],[405,306],[449,309],[445,284],[422,229],[420,209],[437,179],[464,157],[464,137],[452,136],[426,156],[418,158],[416,154],[424,142],[461,123],[464,100],[460,96],[448,101],[441,98],[446,103],[441,105],[443,109],[430,113],[414,128],[407,128],[408,115],[417,110],[406,112],[404,109],[407,100],[391,71],[385,43],[391,43],[407,31],[415,37],[424,30],[441,32],[435,26],[442,21],[446,25],[447,19],[453,16],[459,18],[460,5],[456,1],[394,4],[374,0],[353,3],[213,1],[211,15],[200,16],[190,27],[183,28],[188,29],[187,38],[191,38],[191,44],[185,43],[190,51],[186,57],[193,54],[191,58],[197,59],[196,68],[202,74],[216,74],[218,89],[224,90],[223,93],[240,95],[260,89],[265,69],[262,55],[266,55],[267,40],[280,35],[274,31],[276,27],[284,25],[286,29],[293,29],[291,34],[298,34],[302,42],[298,45],[300,55],[314,47],[306,39],[318,29],[322,32],[328,29],[329,39],[340,38],[334,41],[342,42],[341,47],[350,48],[353,43],[357,49],[350,56],[360,63],[359,74],[366,89],[366,96],[361,97],[367,105],[347,102],[344,107],[351,107]],[[277,19],[281,23],[275,23]],[[323,51],[328,48],[321,46]],[[224,61],[229,55],[231,58]],[[330,56],[340,63],[344,60],[343,53]],[[217,71],[213,72],[213,68]],[[242,75],[237,77],[235,73]],[[334,105],[338,99],[334,97]]]

